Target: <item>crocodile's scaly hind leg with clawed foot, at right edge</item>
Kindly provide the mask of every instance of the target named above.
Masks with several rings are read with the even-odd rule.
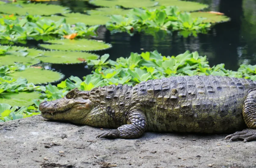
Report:
[[[251,91],[243,105],[243,117],[248,129],[226,136],[230,141],[242,139],[244,142],[256,140],[256,91]]]

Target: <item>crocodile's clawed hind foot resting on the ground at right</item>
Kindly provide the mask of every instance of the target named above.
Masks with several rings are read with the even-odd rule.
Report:
[[[255,129],[245,129],[243,131],[237,131],[234,134],[230,134],[225,137],[225,140],[230,138],[230,141],[242,139],[244,142],[249,142],[256,140],[256,130]]]

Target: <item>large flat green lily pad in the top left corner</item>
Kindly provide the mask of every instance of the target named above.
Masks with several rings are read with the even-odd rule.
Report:
[[[34,3],[7,3],[0,6],[1,13],[25,15],[27,12],[31,15],[51,15],[55,13],[67,12],[66,7],[50,4]]]

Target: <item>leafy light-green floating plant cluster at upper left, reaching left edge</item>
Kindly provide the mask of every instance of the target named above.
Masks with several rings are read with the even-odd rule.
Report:
[[[29,39],[61,38],[63,35],[77,33],[76,38],[96,36],[98,26],[86,26],[76,23],[73,26],[61,17],[58,21],[48,17],[26,15],[22,17],[0,17],[0,39],[8,41],[22,41]]]

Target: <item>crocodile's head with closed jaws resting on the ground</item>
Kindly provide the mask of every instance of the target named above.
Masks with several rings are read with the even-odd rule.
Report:
[[[55,101],[43,101],[39,105],[41,116],[45,119],[63,120],[80,123],[91,111],[92,105],[88,91],[79,91],[77,88]]]

